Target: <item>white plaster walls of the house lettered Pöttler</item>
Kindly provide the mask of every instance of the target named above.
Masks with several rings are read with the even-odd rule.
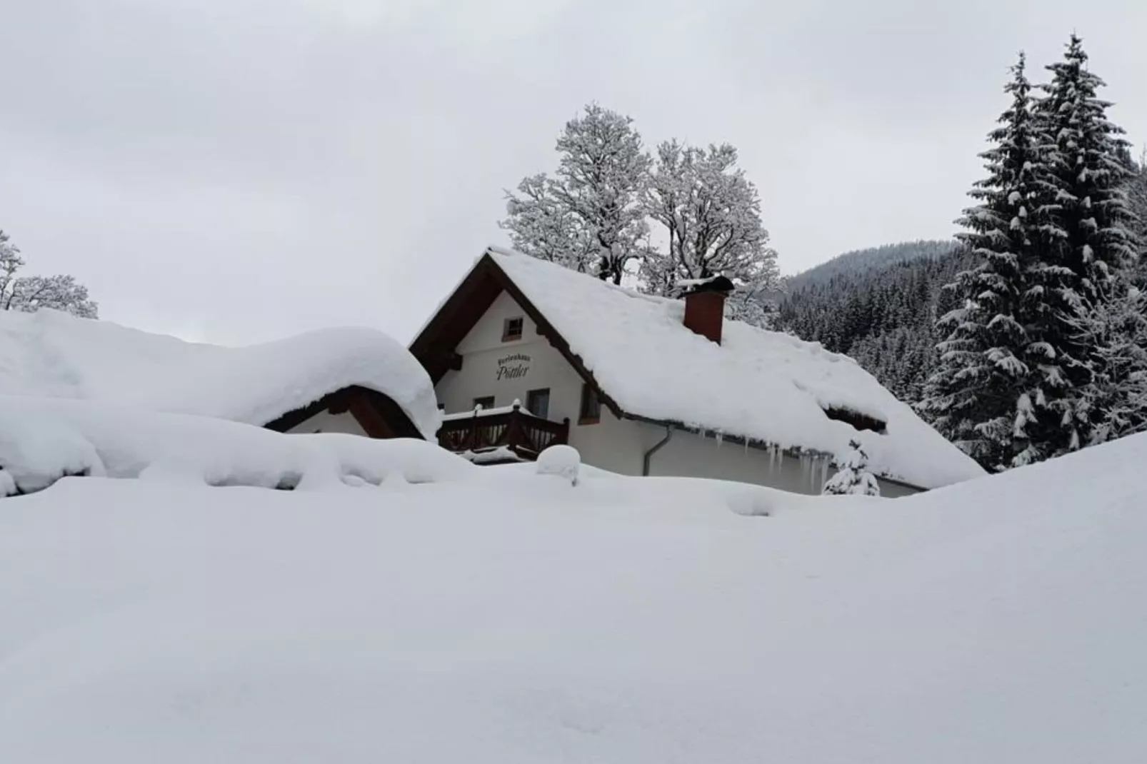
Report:
[[[502,342],[504,321],[518,317],[524,319],[522,338]],[[618,420],[604,407],[598,423],[578,424],[582,377],[538,335],[533,322],[506,293],[462,338],[457,352],[462,356],[462,368],[447,372],[436,388],[447,413],[470,411],[475,398],[486,396],[493,396],[496,406],[508,406],[515,399],[524,405],[528,391],[548,388],[548,419],[569,418],[570,445],[582,453],[582,460],[622,475],[640,475],[646,451],[665,436],[663,427]],[[499,368],[517,371],[499,376]],[[758,449],[718,444],[712,437],[680,430],[654,454],[649,471],[740,481],[801,493],[819,493],[822,484],[819,466],[802,466],[801,460],[783,454],[771,460]],[[914,492],[887,481],[881,481],[881,491],[889,497]]]

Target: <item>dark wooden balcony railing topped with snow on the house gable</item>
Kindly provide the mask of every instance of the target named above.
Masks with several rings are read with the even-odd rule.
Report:
[[[438,430],[438,445],[455,453],[475,454],[508,449],[520,459],[533,460],[549,446],[568,443],[569,434],[569,419],[553,422],[515,404],[509,408],[448,416]]]

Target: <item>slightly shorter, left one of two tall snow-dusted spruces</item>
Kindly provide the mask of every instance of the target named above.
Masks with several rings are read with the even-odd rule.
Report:
[[[1028,377],[1032,367],[1051,367],[1028,312],[1040,301],[1030,281],[1038,266],[1038,223],[1032,215],[1038,193],[1040,148],[1032,122],[1031,85],[1024,57],[1012,68],[1005,87],[1012,104],[989,133],[992,147],[981,154],[988,177],[969,192],[975,206],[958,223],[958,239],[978,259],[945,289],[955,307],[937,321],[938,368],[928,380],[921,413],[945,437],[988,469],[1005,469],[1024,447]]]

